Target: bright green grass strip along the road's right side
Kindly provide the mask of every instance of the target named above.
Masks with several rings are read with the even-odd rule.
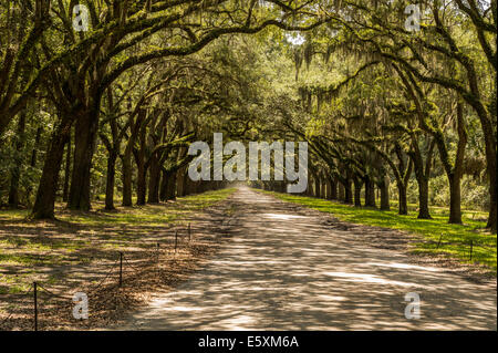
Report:
[[[413,252],[446,255],[458,259],[460,262],[485,264],[496,276],[497,236],[484,229],[486,222],[475,219],[476,211],[464,211],[464,225],[449,225],[447,222],[448,209],[443,207],[432,208],[433,219],[417,219],[416,212],[411,212],[408,216],[400,216],[395,209],[381,211],[372,208],[357,208],[314,197],[258,191],[272,195],[284,201],[299,204],[322,212],[333,214],[334,217],[343,221],[400,229],[416,236],[422,236],[421,241],[412,250]],[[480,217],[478,218],[480,219]],[[473,242],[471,261],[469,261],[470,241]]]

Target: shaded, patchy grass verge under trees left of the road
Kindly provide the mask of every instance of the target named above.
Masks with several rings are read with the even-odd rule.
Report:
[[[105,264],[117,251],[138,253],[170,241],[169,228],[185,228],[186,217],[234,191],[221,189],[114,211],[104,210],[98,201],[89,212],[70,211],[60,204],[56,221],[27,221],[29,210],[0,210],[0,295],[24,292],[34,280],[63,287],[70,279],[92,278],[85,272],[87,266]],[[77,271],[83,267],[85,271]]]

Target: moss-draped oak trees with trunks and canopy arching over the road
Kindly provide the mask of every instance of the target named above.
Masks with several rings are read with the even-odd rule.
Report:
[[[497,224],[496,0],[0,4],[0,204],[160,203],[196,141],[305,141],[308,194]],[[284,181],[261,181],[282,189]],[[364,194],[362,196],[362,190]]]

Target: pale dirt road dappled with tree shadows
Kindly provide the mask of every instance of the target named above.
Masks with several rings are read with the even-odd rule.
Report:
[[[232,238],[190,280],[158,294],[128,330],[496,330],[496,292],[400,250],[372,247],[359,229],[241,188]],[[404,315],[419,293],[422,318]]]

